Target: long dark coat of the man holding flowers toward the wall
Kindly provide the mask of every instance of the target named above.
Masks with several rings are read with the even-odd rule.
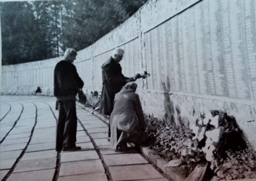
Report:
[[[115,63],[113,58],[108,59],[101,68],[103,87],[100,114],[110,115],[113,110],[115,94],[121,91],[128,78],[124,77],[121,65]]]

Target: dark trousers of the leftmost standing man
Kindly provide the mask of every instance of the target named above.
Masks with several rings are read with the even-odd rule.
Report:
[[[76,143],[76,103],[75,100],[62,100],[59,103],[59,117],[56,128],[56,151],[62,147],[75,147]]]

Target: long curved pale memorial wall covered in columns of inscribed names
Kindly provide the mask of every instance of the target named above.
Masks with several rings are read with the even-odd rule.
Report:
[[[75,65],[84,91],[101,91],[101,65],[124,48],[125,76],[137,80],[146,114],[191,129],[209,111],[235,116],[256,147],[256,2],[151,0],[121,26],[80,50]],[[2,67],[3,94],[52,94],[60,58]]]

